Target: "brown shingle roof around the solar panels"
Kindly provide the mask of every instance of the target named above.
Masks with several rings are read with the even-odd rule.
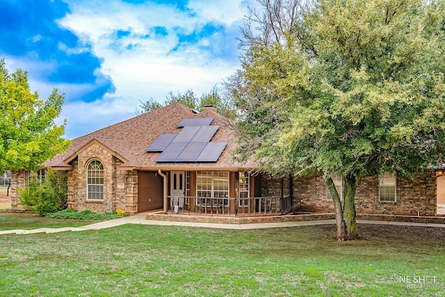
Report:
[[[147,147],[160,135],[179,133],[177,125],[184,118],[210,118],[211,125],[220,125],[220,129],[212,138],[213,141],[227,141],[227,147],[216,162],[193,163],[158,163],[159,152],[145,152]],[[239,163],[233,160],[232,154],[236,148],[236,136],[232,122],[216,112],[216,109],[205,108],[195,113],[179,102],[164,106],[161,109],[138,115],[129,120],[119,122],[104,129],[94,131],[72,141],[72,145],[62,154],[57,154],[53,160],[44,163],[47,167],[66,167],[67,161],[75,156],[90,143],[96,141],[104,145],[113,155],[124,161],[123,167],[137,169],[227,169],[256,168],[254,162]]]

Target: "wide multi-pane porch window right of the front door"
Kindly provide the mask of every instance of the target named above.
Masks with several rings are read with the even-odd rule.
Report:
[[[203,183],[202,179],[207,179],[207,182]],[[218,180],[223,180],[224,190],[216,188],[218,185],[216,182]],[[202,187],[205,185],[205,188]],[[227,186],[227,188],[226,188]],[[218,195],[215,197],[215,194]],[[205,195],[204,195],[205,193]],[[220,197],[223,193],[223,197]],[[196,197],[197,198],[225,198],[224,206],[229,206],[229,195],[230,195],[230,172],[229,171],[197,171],[196,172]],[[196,205],[200,199],[196,200]],[[209,203],[207,203],[209,204]]]

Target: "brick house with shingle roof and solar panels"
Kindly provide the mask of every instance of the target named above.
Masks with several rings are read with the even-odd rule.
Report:
[[[72,141],[44,166],[67,171],[68,207],[129,214],[150,210],[252,216],[333,212],[322,177],[277,178],[253,161],[234,161],[233,123],[206,106],[174,103]],[[40,172],[41,175],[44,172]],[[434,170],[414,180],[366,177],[357,188],[357,213],[434,216]],[[12,204],[26,186],[26,171],[12,175]],[[334,179],[338,190],[343,181]]]

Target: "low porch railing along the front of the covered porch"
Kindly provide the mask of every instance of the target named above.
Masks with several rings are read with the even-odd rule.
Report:
[[[177,214],[276,216],[291,210],[292,198],[290,195],[254,198],[168,196],[168,206]]]

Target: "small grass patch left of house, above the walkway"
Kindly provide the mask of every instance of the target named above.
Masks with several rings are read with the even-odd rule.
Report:
[[[79,227],[97,222],[98,220],[66,220],[60,218],[47,218],[32,214],[0,214],[0,231],[15,229],[31,230],[38,228]]]

